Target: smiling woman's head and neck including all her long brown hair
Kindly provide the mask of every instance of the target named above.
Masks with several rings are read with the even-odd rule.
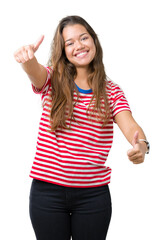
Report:
[[[69,108],[67,119],[70,117],[72,120],[74,88],[79,100],[77,86],[85,90],[92,89],[94,94],[87,114],[91,117],[97,112],[96,120],[102,121],[102,126],[105,126],[109,121],[110,110],[103,52],[95,31],[83,18],[70,16],[60,21],[52,42],[48,66],[53,68],[51,129],[56,130],[59,125],[70,129],[71,122],[67,126],[65,110]],[[100,97],[103,97],[103,102]],[[91,107],[92,111],[89,111]]]

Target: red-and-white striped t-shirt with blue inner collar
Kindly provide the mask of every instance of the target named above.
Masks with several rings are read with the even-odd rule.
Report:
[[[98,187],[110,183],[111,168],[105,166],[113,142],[113,122],[117,113],[128,110],[129,104],[122,89],[107,80],[106,91],[110,103],[110,120],[103,128],[101,122],[90,121],[86,115],[92,90],[78,87],[79,100],[74,106],[75,120],[71,129],[57,128],[50,132],[50,69],[47,67],[47,80],[41,90],[43,111],[39,124],[36,154],[30,177],[66,187]],[[74,90],[73,100],[77,100]],[[66,120],[67,126],[70,119]]]

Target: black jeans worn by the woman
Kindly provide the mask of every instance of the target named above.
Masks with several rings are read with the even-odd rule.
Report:
[[[30,218],[37,240],[105,240],[111,213],[108,185],[73,188],[32,181]]]

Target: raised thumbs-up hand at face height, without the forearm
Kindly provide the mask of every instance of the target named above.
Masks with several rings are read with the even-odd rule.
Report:
[[[34,58],[34,53],[44,40],[44,35],[41,35],[39,39],[34,43],[27,46],[23,46],[14,52],[14,58],[18,63],[26,63]]]

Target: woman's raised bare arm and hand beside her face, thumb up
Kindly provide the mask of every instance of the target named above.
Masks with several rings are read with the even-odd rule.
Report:
[[[41,36],[35,44],[21,47],[14,53],[15,60],[21,63],[32,84],[38,89],[43,87],[47,78],[46,69],[37,62],[34,56],[43,39],[44,36]]]

